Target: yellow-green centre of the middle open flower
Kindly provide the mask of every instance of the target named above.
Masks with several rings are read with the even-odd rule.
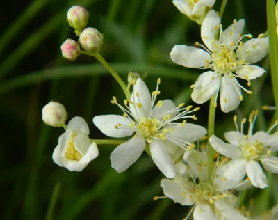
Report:
[[[138,133],[145,139],[149,139],[149,137],[154,135],[160,127],[160,120],[150,117],[141,118],[140,123],[137,125],[137,128],[139,129]]]

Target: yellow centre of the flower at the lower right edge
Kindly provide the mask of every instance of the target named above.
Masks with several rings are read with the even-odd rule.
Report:
[[[254,143],[247,143],[244,141],[240,148],[243,152],[243,157],[248,160],[257,159],[264,152],[263,143],[261,143],[261,141],[255,141]]]

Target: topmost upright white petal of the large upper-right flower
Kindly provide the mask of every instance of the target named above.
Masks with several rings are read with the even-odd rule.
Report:
[[[216,34],[218,33],[218,27],[221,19],[215,10],[210,10],[206,14],[201,26],[201,37],[208,49],[212,50],[212,42],[216,40]]]

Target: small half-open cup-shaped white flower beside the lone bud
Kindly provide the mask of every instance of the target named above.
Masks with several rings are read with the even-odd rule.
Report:
[[[70,171],[82,171],[99,155],[96,143],[90,142],[89,133],[89,127],[83,118],[72,118],[54,149],[54,162]]]

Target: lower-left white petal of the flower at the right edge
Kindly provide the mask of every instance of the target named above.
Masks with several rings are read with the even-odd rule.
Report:
[[[238,186],[246,175],[246,164],[247,160],[245,159],[232,159],[222,166],[219,171],[219,178],[215,180],[218,189],[227,190]]]

